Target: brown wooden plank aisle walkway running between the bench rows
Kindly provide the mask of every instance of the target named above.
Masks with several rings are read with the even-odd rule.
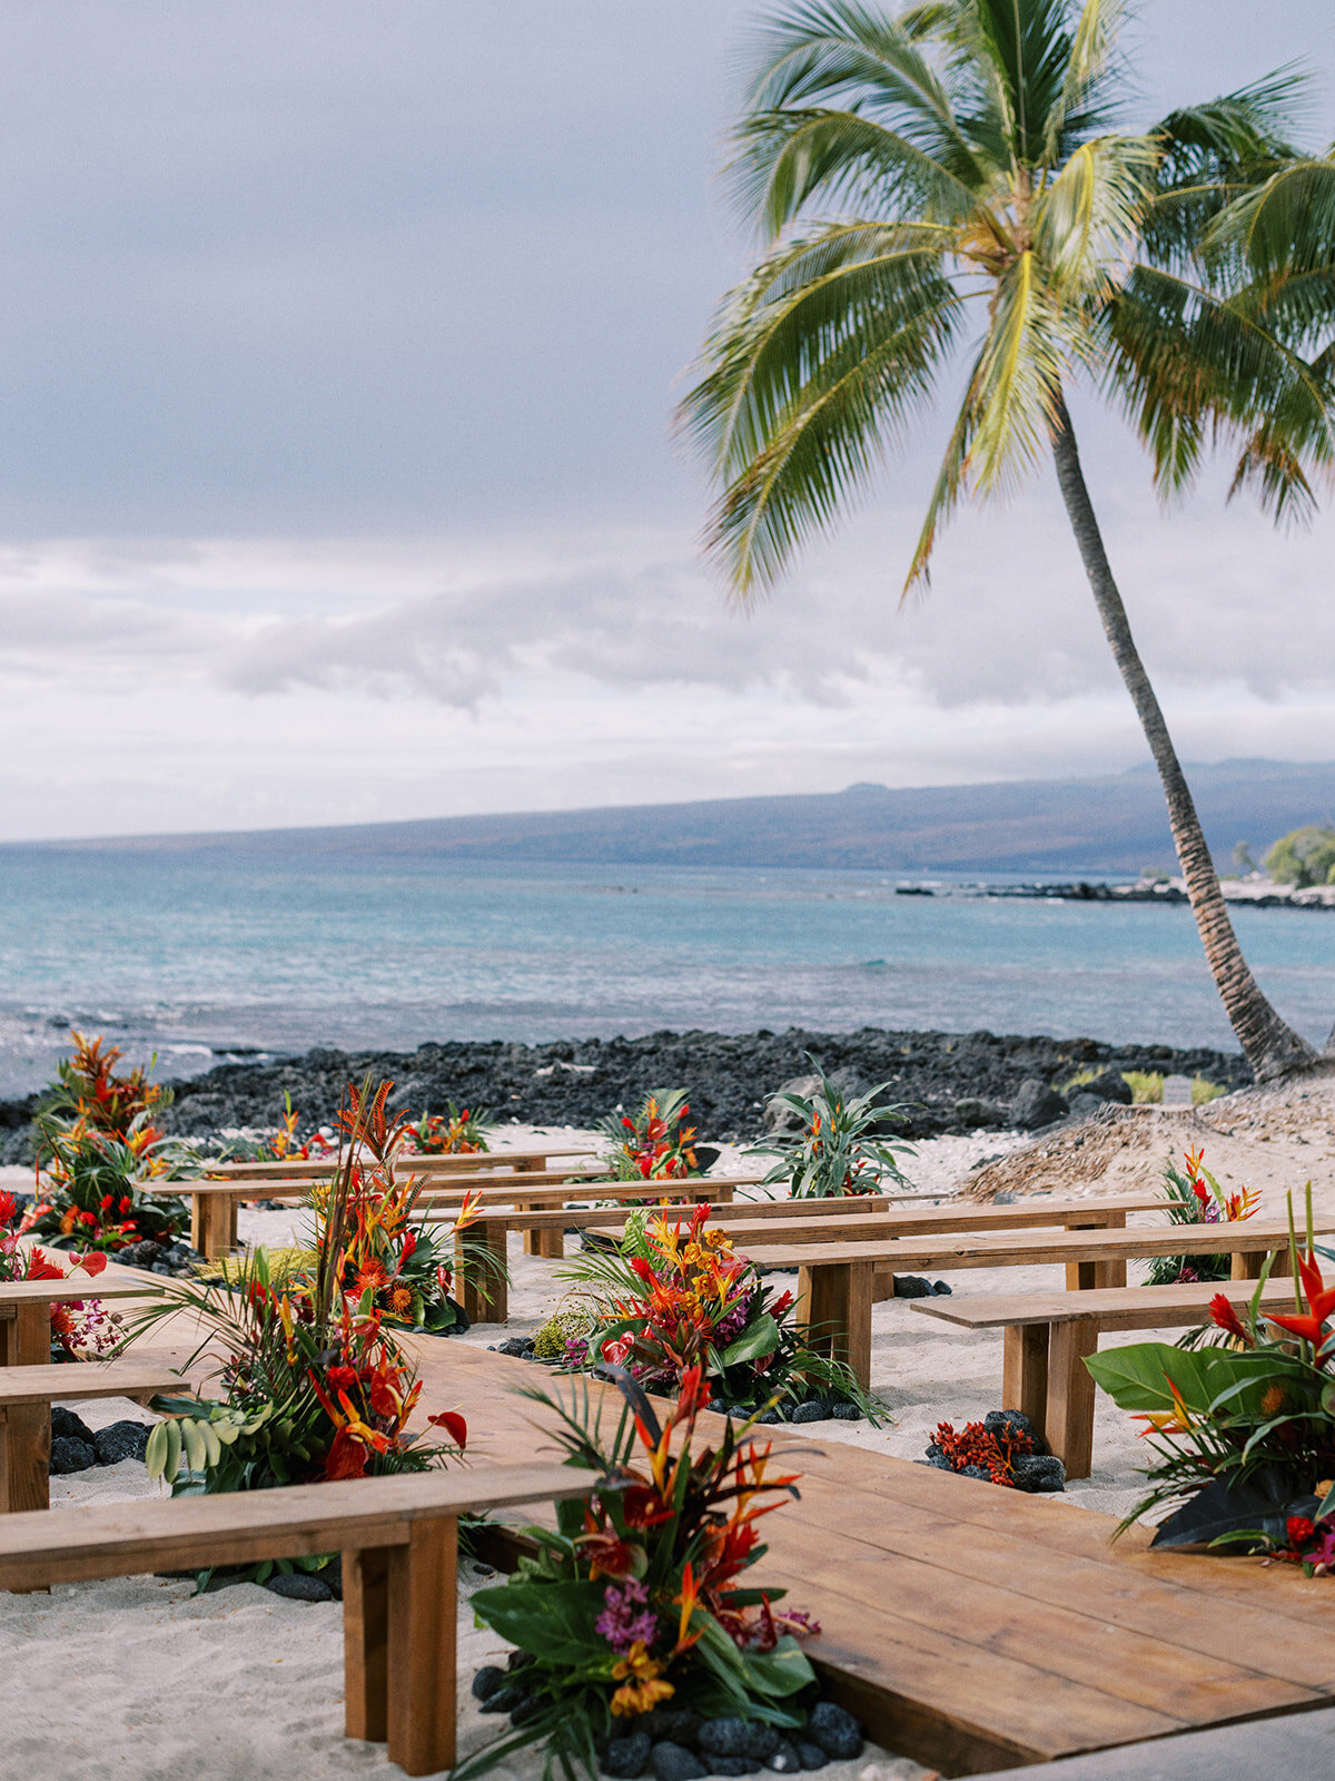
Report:
[[[135,1357],[180,1362],[187,1338],[164,1330]],[[422,1414],[461,1409],[473,1460],[555,1453],[513,1387],[566,1382],[472,1343],[413,1346]],[[1331,1580],[1152,1555],[1137,1530],[1112,1546],[1109,1516],[854,1448],[819,1423],[767,1434],[803,1496],[767,1517],[756,1582],[821,1621],[810,1656],[886,1749],[965,1776],[1335,1704]]]

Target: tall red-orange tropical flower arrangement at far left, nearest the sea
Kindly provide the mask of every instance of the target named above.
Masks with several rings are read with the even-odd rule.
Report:
[[[142,1191],[146,1181],[198,1172],[189,1145],[153,1126],[171,1095],[144,1069],[117,1074],[119,1045],[71,1038],[37,1108],[37,1191],[23,1231],[110,1254],[171,1243],[189,1225],[185,1202]]]

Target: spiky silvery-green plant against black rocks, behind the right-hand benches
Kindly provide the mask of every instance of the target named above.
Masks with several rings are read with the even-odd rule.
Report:
[[[913,1149],[883,1136],[886,1124],[902,1124],[904,1118],[902,1108],[881,1101],[890,1085],[879,1083],[865,1095],[846,1095],[810,1053],[806,1058],[819,1078],[815,1094],[787,1092],[774,1097],[797,1115],[799,1131],[755,1145],[760,1156],[778,1156],[765,1183],[787,1183],[794,1199],[879,1193],[886,1181],[906,1188],[895,1152],[911,1156]]]

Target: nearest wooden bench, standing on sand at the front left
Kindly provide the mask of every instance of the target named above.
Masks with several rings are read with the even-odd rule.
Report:
[[[0,1523],[0,1589],[344,1555],[349,1738],[409,1776],[456,1760],[457,1517],[586,1496],[591,1471],[498,1466],[162,1503],[44,1509]]]

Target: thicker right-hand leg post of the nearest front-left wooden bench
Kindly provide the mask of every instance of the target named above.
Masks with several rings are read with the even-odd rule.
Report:
[[[404,1774],[454,1769],[459,1525],[415,1521],[390,1549],[388,1758]]]

